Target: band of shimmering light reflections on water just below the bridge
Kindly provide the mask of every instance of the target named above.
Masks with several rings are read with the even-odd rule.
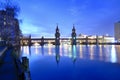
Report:
[[[23,46],[22,56],[30,59],[38,56],[55,56],[57,63],[60,57],[71,58],[73,62],[78,59],[100,60],[104,62],[120,63],[119,45],[64,45],[64,46]]]

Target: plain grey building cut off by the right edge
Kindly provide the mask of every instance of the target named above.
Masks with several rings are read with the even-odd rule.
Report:
[[[120,21],[114,25],[114,36],[116,41],[120,41]]]

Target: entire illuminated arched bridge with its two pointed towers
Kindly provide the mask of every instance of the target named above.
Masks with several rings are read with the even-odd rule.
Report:
[[[32,46],[35,43],[44,46],[45,44],[53,44],[53,45],[62,45],[62,44],[69,44],[69,45],[79,45],[79,44],[95,44],[95,45],[112,45],[112,44],[119,44],[119,43],[113,43],[113,42],[106,42],[105,37],[98,37],[97,35],[94,38],[91,38],[89,36],[86,37],[76,37],[76,29],[73,26],[71,38],[60,38],[60,32],[58,26],[56,27],[55,32],[55,38],[31,38],[31,35],[29,37],[22,37],[20,41],[22,46]]]

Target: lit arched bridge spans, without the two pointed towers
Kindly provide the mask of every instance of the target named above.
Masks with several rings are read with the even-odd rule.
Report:
[[[60,38],[60,44],[71,44],[72,38]],[[21,45],[33,45],[35,43],[42,44],[42,40],[44,44],[53,44],[55,45],[55,38],[31,38],[26,37],[21,39]],[[77,44],[113,44],[112,42],[108,42],[104,38],[96,37],[96,38],[76,38]]]

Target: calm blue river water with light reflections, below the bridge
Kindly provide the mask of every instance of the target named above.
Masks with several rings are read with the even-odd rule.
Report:
[[[120,64],[119,45],[22,46],[21,56],[29,58],[32,80],[115,80],[116,77],[116,79],[120,78],[117,76],[120,66],[119,68],[112,66],[112,64]],[[109,74],[111,70],[116,71],[113,72],[113,78],[102,77],[103,73],[111,76]]]

